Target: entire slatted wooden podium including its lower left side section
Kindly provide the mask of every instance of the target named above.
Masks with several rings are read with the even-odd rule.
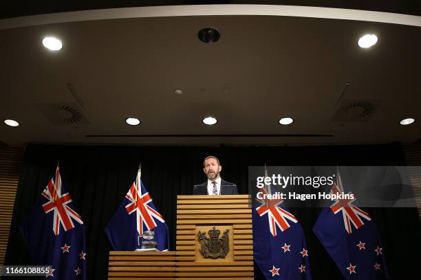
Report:
[[[176,251],[110,252],[108,276],[253,279],[250,196],[177,196]]]

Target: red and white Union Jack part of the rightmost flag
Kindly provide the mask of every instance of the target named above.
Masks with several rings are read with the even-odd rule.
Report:
[[[336,176],[336,183],[332,185],[332,191],[330,191],[331,194],[343,194],[343,185],[341,180],[341,175],[338,172],[338,175]],[[349,191],[348,194],[351,194]],[[343,215],[343,223],[345,225],[345,230],[347,233],[351,234],[351,223],[354,224],[356,229],[359,229],[361,226],[364,225],[363,220],[360,219],[360,217],[365,218],[365,220],[371,220],[369,214],[365,213],[365,211],[359,209],[358,207],[352,205],[352,202],[355,201],[354,199],[336,199],[334,204],[330,206],[330,209],[332,209],[333,213],[339,213],[342,212]]]

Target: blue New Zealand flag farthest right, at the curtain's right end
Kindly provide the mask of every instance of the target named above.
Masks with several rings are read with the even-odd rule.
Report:
[[[332,194],[344,192],[336,176]],[[313,231],[345,279],[389,279],[376,224],[351,199],[337,199],[322,209]]]

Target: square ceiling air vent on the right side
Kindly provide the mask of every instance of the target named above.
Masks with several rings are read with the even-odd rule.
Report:
[[[332,121],[369,121],[381,103],[381,100],[343,100]]]

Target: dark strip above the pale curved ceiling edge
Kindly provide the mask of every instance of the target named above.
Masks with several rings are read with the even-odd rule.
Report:
[[[79,10],[204,4],[303,5],[421,15],[421,1],[418,0],[2,0],[0,1],[0,19]]]

